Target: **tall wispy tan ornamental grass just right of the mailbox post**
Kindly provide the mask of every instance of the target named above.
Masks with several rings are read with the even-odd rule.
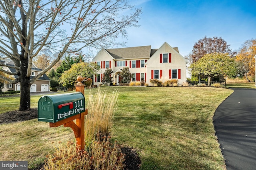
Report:
[[[95,94],[90,91],[87,105],[88,115],[86,115],[84,125],[85,141],[90,142],[96,139],[97,134],[101,137],[110,135],[118,95],[117,90],[111,93],[99,88]]]

